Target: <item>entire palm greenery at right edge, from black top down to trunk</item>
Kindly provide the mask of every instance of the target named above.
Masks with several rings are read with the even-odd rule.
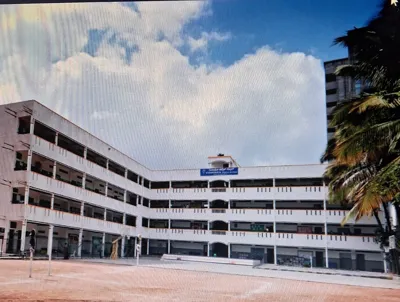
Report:
[[[321,161],[331,161],[325,177],[331,202],[352,205],[351,217],[375,216],[381,246],[394,234],[388,204],[400,218],[400,7],[383,1],[366,27],[339,37],[335,44],[348,47],[350,64],[337,70],[368,83],[362,95],[333,111],[333,138]],[[386,228],[379,219],[383,208]],[[397,251],[392,251],[399,272]]]

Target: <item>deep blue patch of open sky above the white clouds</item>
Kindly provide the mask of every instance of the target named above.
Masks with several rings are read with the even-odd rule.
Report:
[[[335,37],[360,27],[377,11],[380,0],[216,0],[212,16],[192,22],[191,32],[217,29],[233,39],[212,51],[230,64],[262,45],[283,52],[305,52],[322,61],[346,56],[332,46]]]

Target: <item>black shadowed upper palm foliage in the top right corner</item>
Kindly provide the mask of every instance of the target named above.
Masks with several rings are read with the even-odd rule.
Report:
[[[378,91],[396,91],[400,85],[400,5],[382,1],[378,14],[365,27],[349,30],[334,44],[349,49],[351,64],[339,73],[362,79]]]

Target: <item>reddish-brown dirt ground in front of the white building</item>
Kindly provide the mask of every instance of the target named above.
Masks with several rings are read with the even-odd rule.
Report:
[[[400,301],[400,290],[109,264],[0,261],[0,301]],[[323,276],[321,276],[323,278]]]

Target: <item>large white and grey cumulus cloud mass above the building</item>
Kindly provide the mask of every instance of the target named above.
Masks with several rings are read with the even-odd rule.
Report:
[[[219,152],[242,166],[317,162],[320,61],[265,46],[230,66],[193,66],[182,44],[201,50],[232,36],[182,33],[208,15],[194,1],[2,7],[0,103],[37,99],[156,169],[204,167]],[[91,30],[105,32],[92,55]]]

